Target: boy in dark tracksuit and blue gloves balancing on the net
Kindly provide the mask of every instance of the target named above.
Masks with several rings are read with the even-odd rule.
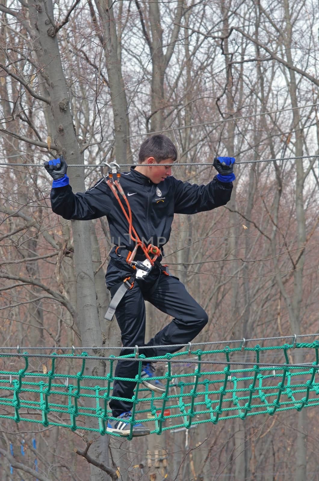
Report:
[[[214,158],[213,165],[218,171],[207,185],[191,185],[172,176],[171,165],[177,159],[173,142],[165,135],[153,135],[147,138],[139,151],[138,165],[132,166],[130,172],[121,174],[120,185],[132,210],[132,225],[140,240],[159,247],[169,240],[171,225],[175,213],[196,214],[225,205],[231,195],[233,157]],[[169,164],[169,165],[163,165]],[[127,259],[135,244],[128,234],[128,221],[104,179],[84,193],[72,192],[66,176],[67,165],[63,158],[46,162],[46,170],[53,177],[51,204],[53,212],[65,219],[90,220],[106,215],[114,248],[110,253],[110,262],[106,271],[106,285],[112,299],[115,298],[123,280],[134,276],[132,265]],[[123,199],[122,199],[123,201]],[[123,202],[123,205],[126,204]],[[146,254],[138,247],[134,261],[145,261]],[[155,357],[173,353],[178,348],[165,347],[172,344],[186,344],[192,341],[208,322],[206,312],[186,291],[178,278],[163,275],[165,267],[161,266],[159,255],[151,271],[145,278],[135,279],[132,289],[127,289],[116,307],[116,318],[121,330],[124,347],[162,346],[139,350],[146,357]],[[166,273],[167,274],[167,273]],[[145,344],[145,303],[147,300],[160,311],[173,317],[173,320],[161,329]],[[127,354],[127,350],[120,355]],[[115,376],[134,379],[138,363],[130,359],[118,362]],[[149,389],[162,393],[165,388],[159,380],[154,380],[155,369],[151,363],[143,364],[143,384]],[[113,396],[132,399],[135,382],[115,381]],[[112,399],[110,408],[115,420],[108,422],[107,431],[123,436],[130,433],[129,423],[132,402]],[[150,430],[143,424],[133,426],[133,436],[144,436]]]

